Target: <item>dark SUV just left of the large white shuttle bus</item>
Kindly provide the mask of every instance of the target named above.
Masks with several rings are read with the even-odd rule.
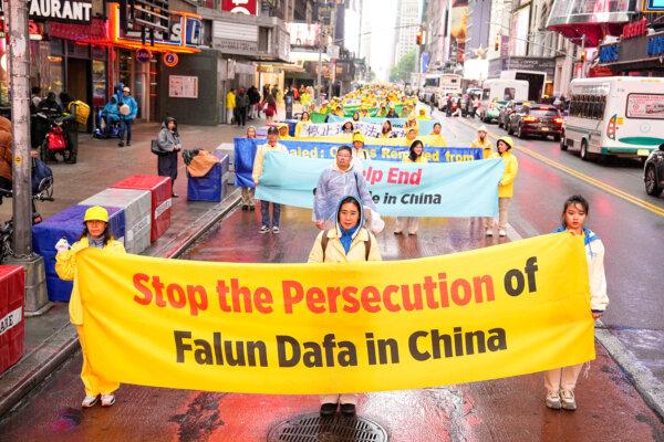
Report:
[[[517,133],[519,138],[529,135],[552,136],[560,141],[562,135],[562,116],[558,108],[550,104],[523,105],[521,112],[512,113],[507,119],[507,133]]]

